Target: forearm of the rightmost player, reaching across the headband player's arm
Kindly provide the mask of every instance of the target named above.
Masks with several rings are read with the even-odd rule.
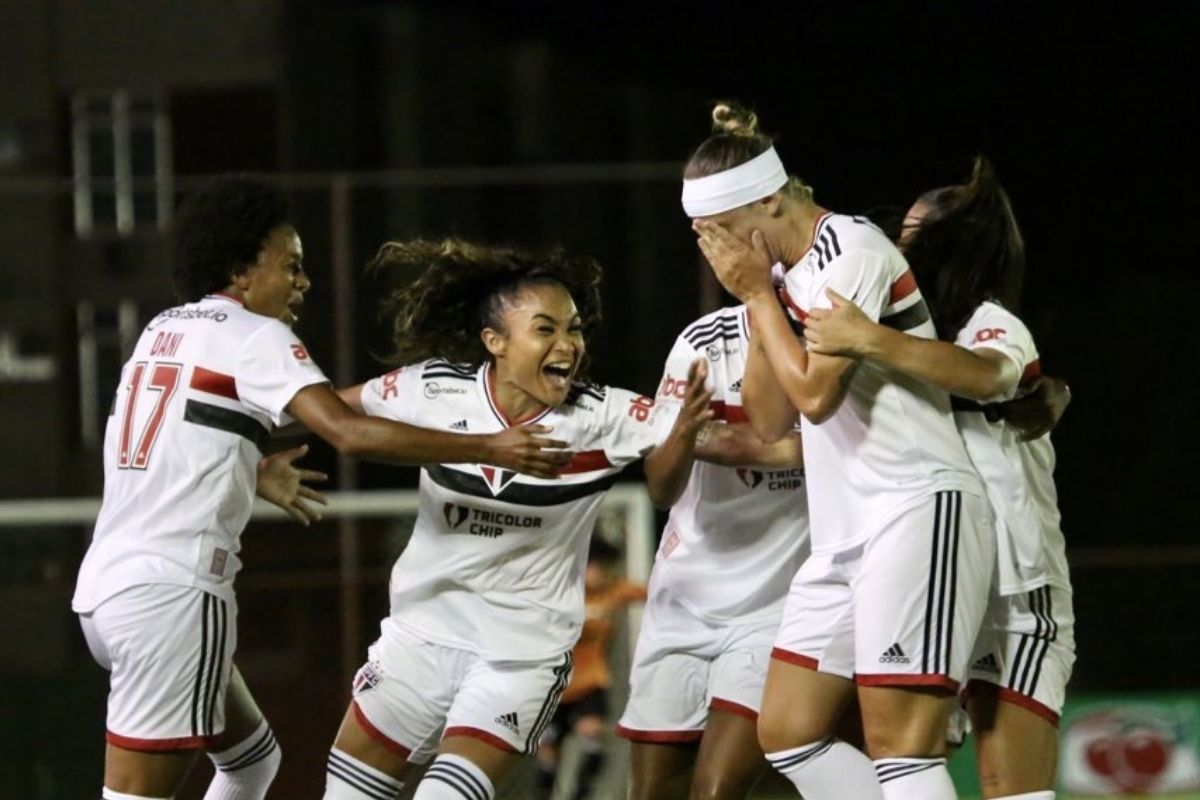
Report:
[[[1020,379],[1000,354],[989,359],[952,342],[910,336],[884,325],[874,325],[865,344],[864,357],[967,399],[1002,399]]]

